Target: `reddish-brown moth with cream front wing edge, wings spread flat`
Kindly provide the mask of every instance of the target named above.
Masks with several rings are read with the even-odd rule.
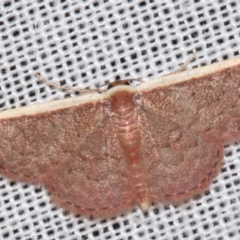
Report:
[[[75,214],[109,217],[201,193],[240,136],[240,57],[0,113],[0,174]]]

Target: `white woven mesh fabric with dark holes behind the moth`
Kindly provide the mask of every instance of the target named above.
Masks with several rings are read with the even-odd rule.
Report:
[[[4,0],[0,2],[0,107],[75,94],[37,81],[96,88],[150,80],[239,55],[234,0]],[[0,239],[240,239],[240,145],[226,146],[222,172],[186,204],[153,206],[110,220],[73,217],[39,186],[0,178]]]

